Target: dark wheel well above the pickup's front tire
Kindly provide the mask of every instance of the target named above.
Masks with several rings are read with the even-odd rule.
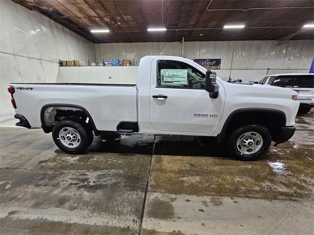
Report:
[[[275,137],[278,133],[278,129],[286,125],[286,116],[281,111],[272,110],[248,110],[240,111],[231,114],[223,127],[222,133],[225,136],[229,136],[238,127],[247,124],[260,124],[265,126],[271,133],[272,137]]]

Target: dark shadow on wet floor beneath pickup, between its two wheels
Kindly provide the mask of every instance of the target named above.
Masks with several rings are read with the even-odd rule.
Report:
[[[154,146],[155,139],[155,146]],[[227,156],[226,146],[217,144],[213,138],[178,136],[119,134],[104,132],[94,137],[93,144],[87,152],[98,153],[130,153],[180,156]]]

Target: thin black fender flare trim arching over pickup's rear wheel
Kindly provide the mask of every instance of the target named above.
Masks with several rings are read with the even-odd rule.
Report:
[[[79,105],[76,105],[76,104],[45,104],[41,110],[40,110],[40,121],[41,121],[41,128],[44,130],[45,133],[50,133],[52,132],[52,127],[49,127],[49,126],[46,126],[45,124],[45,119],[44,119],[44,112],[47,108],[50,108],[50,107],[68,107],[68,108],[76,108],[76,109],[79,109],[81,110],[89,119],[90,121],[90,124],[92,126],[92,129],[95,133],[95,136],[98,136],[100,134],[100,131],[97,130],[96,126],[95,126],[95,123],[93,121],[93,118],[92,116],[88,113],[88,111],[83,108],[82,106],[79,106]]]

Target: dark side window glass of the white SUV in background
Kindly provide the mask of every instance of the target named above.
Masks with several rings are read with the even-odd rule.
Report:
[[[281,75],[277,76],[271,86],[314,88],[314,75]]]

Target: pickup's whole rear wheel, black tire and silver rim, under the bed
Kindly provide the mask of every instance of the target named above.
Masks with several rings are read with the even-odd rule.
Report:
[[[54,143],[64,152],[82,153],[89,147],[93,139],[89,130],[74,120],[58,121],[52,129]]]

